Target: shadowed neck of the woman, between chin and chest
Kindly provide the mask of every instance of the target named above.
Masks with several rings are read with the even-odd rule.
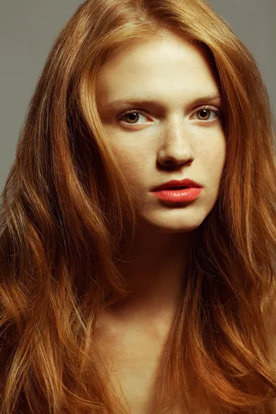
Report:
[[[174,313],[194,240],[194,231],[158,233],[140,226],[128,254],[116,264],[131,292],[112,305],[112,312],[124,315],[125,322]]]

